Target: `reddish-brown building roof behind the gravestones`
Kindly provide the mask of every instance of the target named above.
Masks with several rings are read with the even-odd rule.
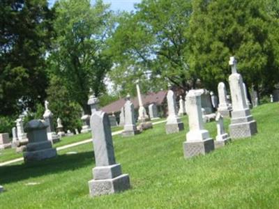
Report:
[[[149,93],[147,95],[142,95],[142,103],[146,107],[149,104],[156,104],[160,105],[163,104],[165,98],[167,97],[167,91],[158,91],[157,93]],[[101,110],[105,111],[106,113],[117,112],[120,111],[121,108],[124,106],[126,100],[125,98],[121,98],[111,104],[107,104],[107,106],[102,107]],[[139,108],[139,101],[137,97],[131,98],[131,102],[133,102],[135,109]]]

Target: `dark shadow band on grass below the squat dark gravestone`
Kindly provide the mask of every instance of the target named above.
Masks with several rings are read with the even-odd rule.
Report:
[[[7,184],[33,178],[50,175],[68,170],[80,169],[95,162],[93,151],[77,153],[73,155],[57,155],[55,158],[0,167],[0,183]]]

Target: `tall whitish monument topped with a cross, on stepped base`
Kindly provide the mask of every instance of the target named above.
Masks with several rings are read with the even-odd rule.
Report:
[[[236,71],[236,59],[231,56],[229,65],[232,75],[229,76],[229,88],[232,95],[232,120],[229,125],[229,134],[232,139],[251,137],[257,133],[257,122],[250,114],[243,89],[243,80]]]

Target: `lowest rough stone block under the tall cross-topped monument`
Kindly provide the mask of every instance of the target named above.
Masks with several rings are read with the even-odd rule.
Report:
[[[229,125],[229,135],[232,139],[252,137],[257,133],[257,122],[234,123]]]

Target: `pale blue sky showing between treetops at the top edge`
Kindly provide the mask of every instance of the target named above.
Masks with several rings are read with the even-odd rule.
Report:
[[[50,6],[54,4],[56,0],[48,0]],[[78,0],[77,0],[78,1]],[[94,2],[94,0],[92,0]],[[104,3],[110,3],[111,8],[114,11],[117,10],[126,10],[130,12],[134,9],[135,3],[140,3],[142,0],[103,0]]]

